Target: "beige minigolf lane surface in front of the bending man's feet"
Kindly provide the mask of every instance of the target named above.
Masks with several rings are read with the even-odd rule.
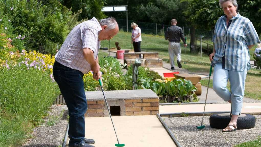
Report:
[[[126,147],[176,146],[156,115],[112,116],[112,120],[119,142]],[[85,132],[86,138],[95,140],[95,147],[117,143],[110,117],[86,117]]]

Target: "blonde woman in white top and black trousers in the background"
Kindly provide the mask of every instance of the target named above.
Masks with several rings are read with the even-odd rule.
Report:
[[[140,42],[141,42],[141,30],[138,27],[138,25],[134,22],[131,23],[132,27],[132,43],[133,43],[133,48],[134,52],[141,52],[140,50]],[[140,54],[141,57],[141,54]]]

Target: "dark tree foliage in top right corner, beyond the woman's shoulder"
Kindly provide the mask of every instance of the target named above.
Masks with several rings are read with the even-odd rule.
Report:
[[[240,15],[247,17],[253,23],[257,34],[261,33],[261,0],[238,1]]]

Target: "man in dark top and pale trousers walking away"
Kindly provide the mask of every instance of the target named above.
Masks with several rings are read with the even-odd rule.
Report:
[[[186,47],[186,41],[183,34],[183,30],[181,27],[177,26],[177,20],[172,19],[171,20],[171,26],[167,28],[167,31],[165,32],[165,39],[169,40],[169,59],[170,59],[170,65],[171,69],[175,69],[174,65],[174,57],[177,56],[177,64],[179,68],[181,68],[181,48],[180,48],[180,38],[182,39],[184,46]]]

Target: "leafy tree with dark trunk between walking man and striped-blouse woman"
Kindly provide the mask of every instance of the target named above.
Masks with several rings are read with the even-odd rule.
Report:
[[[213,29],[223,10],[218,0],[181,0],[188,2],[187,10],[183,13],[191,22],[190,51],[195,52],[195,28]]]

